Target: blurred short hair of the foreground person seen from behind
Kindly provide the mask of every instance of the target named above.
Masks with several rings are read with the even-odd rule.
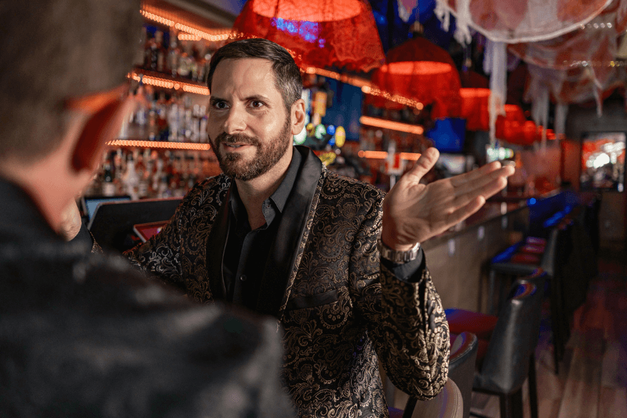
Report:
[[[125,81],[139,0],[0,1],[0,156],[40,160],[59,144],[68,98]]]

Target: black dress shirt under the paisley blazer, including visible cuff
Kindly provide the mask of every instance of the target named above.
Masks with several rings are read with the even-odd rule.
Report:
[[[248,222],[248,214],[233,182],[229,200],[229,235],[224,251],[222,271],[226,284],[227,300],[254,310],[257,306],[261,280],[268,259],[268,251],[277,237],[285,203],[293,189],[302,157],[294,150],[285,178],[277,190],[263,202],[265,224],[254,231]],[[419,281],[417,272],[422,262],[422,249],[418,257],[409,263],[396,264],[382,259],[382,263],[402,281]],[[417,276],[417,277],[415,277]],[[277,291],[282,291],[277,289]]]

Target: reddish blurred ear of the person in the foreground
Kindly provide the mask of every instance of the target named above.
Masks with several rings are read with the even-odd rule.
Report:
[[[88,118],[72,153],[72,167],[76,171],[93,171],[98,167],[107,141],[116,139],[123,118],[127,115],[128,100],[115,101]]]

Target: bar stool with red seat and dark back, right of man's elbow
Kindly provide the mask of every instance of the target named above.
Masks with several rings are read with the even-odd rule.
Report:
[[[532,279],[543,285],[545,273]],[[522,416],[522,384],[529,379],[532,418],[538,417],[535,355],[541,313],[541,291],[532,281],[518,279],[498,317],[463,309],[447,309],[451,332],[479,337],[477,373],[472,389],[500,396],[502,418]],[[471,413],[471,415],[474,415]],[[479,415],[477,415],[479,416]]]

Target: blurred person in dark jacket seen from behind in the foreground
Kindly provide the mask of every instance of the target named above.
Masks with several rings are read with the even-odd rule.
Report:
[[[0,417],[293,417],[274,321],[59,236],[130,107],[139,1],[0,16]]]

